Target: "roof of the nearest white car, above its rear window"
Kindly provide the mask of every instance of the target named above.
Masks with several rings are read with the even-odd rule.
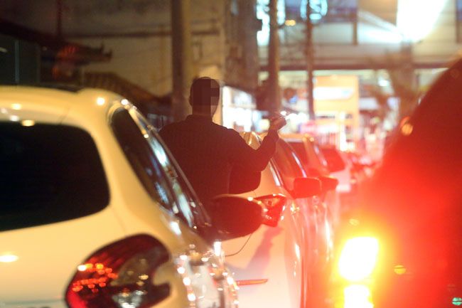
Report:
[[[0,120],[58,124],[65,121],[70,110],[82,119],[98,113],[105,116],[110,102],[121,99],[113,92],[95,88],[0,86]]]

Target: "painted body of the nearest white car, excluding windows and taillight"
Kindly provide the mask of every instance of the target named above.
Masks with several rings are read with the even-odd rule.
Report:
[[[90,134],[100,154],[109,189],[109,203],[96,213],[0,230],[0,307],[70,307],[65,294],[70,292],[68,287],[72,277],[82,269],[87,257],[108,244],[139,234],[159,240],[169,255],[166,263],[156,267],[154,278],[149,276],[148,282],[152,285],[163,282],[170,285],[168,296],[153,307],[192,307],[194,304],[215,307],[213,304],[219,305],[220,301],[226,303],[226,307],[235,307],[232,277],[210,280],[208,270],[213,266],[222,268],[213,250],[193,228],[151,198],[141,185],[109,124],[114,110],[127,110],[136,121],[141,121],[136,124],[141,125],[140,134],[144,134],[146,144],[157,144],[156,156],[164,163],[170,159],[159,147],[156,134],[149,129],[143,130],[142,126],[147,122],[143,122],[144,118],[136,108],[112,92],[0,87],[0,124],[18,127],[23,124],[24,129],[40,124],[65,125]],[[0,208],[0,218],[1,211]],[[65,204],[63,211],[66,211]],[[191,276],[193,281],[188,277],[188,268],[193,268],[188,267],[192,266],[191,253],[208,257],[203,265],[194,267],[198,272]],[[83,270],[85,272],[85,268]],[[210,285],[198,284],[194,279],[210,280]],[[144,282],[140,280],[139,283]],[[213,284],[217,286],[210,287]],[[104,283],[95,288],[102,292],[107,285]],[[196,297],[200,296],[203,296],[202,302],[196,303]],[[135,303],[127,307],[137,306]]]

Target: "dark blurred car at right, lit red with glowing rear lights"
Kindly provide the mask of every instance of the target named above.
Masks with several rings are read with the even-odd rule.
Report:
[[[397,128],[346,221],[332,289],[343,307],[462,304],[461,85],[458,60]]]

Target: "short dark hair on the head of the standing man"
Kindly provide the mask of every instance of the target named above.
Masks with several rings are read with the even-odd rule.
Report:
[[[218,100],[220,100],[220,83],[217,80],[210,77],[193,80],[189,92],[190,105],[217,105]]]

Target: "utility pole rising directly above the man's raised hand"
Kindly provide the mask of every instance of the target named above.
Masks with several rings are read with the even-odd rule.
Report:
[[[270,112],[281,111],[279,90],[279,24],[277,0],[269,0],[268,103]]]

